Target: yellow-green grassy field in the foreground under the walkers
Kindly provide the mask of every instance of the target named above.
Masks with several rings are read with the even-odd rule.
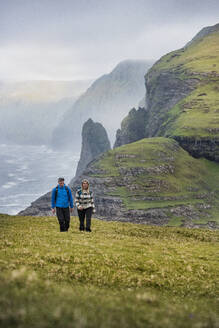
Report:
[[[0,215],[1,327],[218,327],[218,231]]]

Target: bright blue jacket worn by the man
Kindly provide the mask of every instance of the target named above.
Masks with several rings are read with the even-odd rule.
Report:
[[[65,189],[65,185],[63,187],[60,187],[58,185],[58,192],[57,192],[57,197],[55,201],[55,194],[56,194],[56,187],[53,188],[52,190],[52,199],[51,199],[51,205],[52,208],[55,207],[70,207],[73,208],[73,197],[71,193],[71,189],[67,186],[68,191],[69,191],[69,198],[68,199],[68,193]]]

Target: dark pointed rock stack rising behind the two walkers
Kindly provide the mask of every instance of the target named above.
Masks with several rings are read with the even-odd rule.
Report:
[[[87,120],[82,128],[82,148],[76,177],[83,172],[89,162],[110,148],[110,142],[102,124],[94,123],[92,119]]]

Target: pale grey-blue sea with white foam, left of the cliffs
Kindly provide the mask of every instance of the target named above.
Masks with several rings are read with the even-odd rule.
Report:
[[[0,144],[0,213],[17,214],[57,185],[68,184],[79,154],[56,152],[46,146]]]

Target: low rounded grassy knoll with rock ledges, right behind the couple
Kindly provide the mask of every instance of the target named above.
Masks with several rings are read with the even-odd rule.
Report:
[[[113,177],[111,195],[120,197],[127,209],[208,203],[206,222],[219,223],[219,165],[193,158],[173,139],[145,138],[123,145],[95,165],[102,172],[99,177]]]

